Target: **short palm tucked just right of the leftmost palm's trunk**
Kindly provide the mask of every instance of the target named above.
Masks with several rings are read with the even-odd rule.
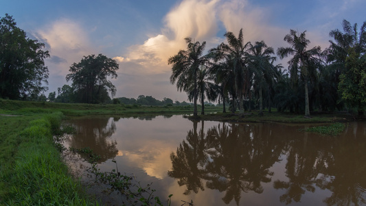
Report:
[[[199,99],[201,100],[201,115],[205,115],[205,97],[210,100],[216,100],[218,96],[218,85],[214,83],[214,76],[208,72],[207,69],[198,69],[197,75],[197,93]],[[193,89],[189,89],[191,92],[188,94],[188,99],[192,100],[194,98]]]

